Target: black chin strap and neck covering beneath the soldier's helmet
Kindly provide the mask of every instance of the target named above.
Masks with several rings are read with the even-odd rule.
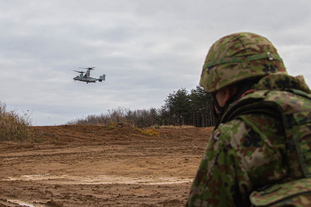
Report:
[[[211,93],[212,98],[213,98],[213,104],[217,108],[218,114],[216,113],[215,107],[214,107],[214,115],[217,117],[217,123],[216,126],[218,125],[218,122],[220,121],[220,118],[222,117],[224,111],[232,104],[234,101],[238,100],[240,96],[242,96],[246,91],[252,88],[252,86],[258,81],[260,78],[252,78],[252,79],[246,79],[244,81],[241,81],[236,84],[237,87],[237,92],[234,93],[226,102],[225,106],[221,107],[218,104],[218,101],[216,100],[216,92]],[[230,86],[229,86],[230,87]]]

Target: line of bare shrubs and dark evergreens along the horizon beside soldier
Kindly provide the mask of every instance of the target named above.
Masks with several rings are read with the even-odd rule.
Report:
[[[72,119],[65,124],[111,124],[127,123],[139,128],[157,126],[211,127],[216,123],[211,94],[197,86],[190,93],[186,88],[173,91],[160,108],[131,110],[118,106],[100,115],[87,115]]]

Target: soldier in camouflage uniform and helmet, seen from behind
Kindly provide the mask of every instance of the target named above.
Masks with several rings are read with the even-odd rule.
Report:
[[[200,85],[215,130],[187,206],[311,206],[311,95],[276,48],[252,33],[214,43]]]

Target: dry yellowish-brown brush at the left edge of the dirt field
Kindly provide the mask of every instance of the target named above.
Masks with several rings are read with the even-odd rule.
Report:
[[[6,103],[0,101],[0,141],[39,142],[41,136],[31,127],[32,113],[28,114],[28,110],[21,116],[16,111],[7,109]]]

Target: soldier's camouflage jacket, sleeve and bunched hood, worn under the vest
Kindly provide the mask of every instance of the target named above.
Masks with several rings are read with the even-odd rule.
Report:
[[[310,93],[302,76],[280,73],[263,77],[252,89],[259,93],[273,91],[275,99],[277,94],[281,97],[289,89]],[[297,96],[289,94],[288,105]],[[311,106],[308,98],[302,101],[299,106],[304,102]],[[284,155],[290,144],[283,125],[280,118],[258,111],[238,115],[216,126],[193,180],[187,206],[251,206],[249,196],[253,191],[304,178],[296,158]],[[311,124],[306,130],[310,129]]]

